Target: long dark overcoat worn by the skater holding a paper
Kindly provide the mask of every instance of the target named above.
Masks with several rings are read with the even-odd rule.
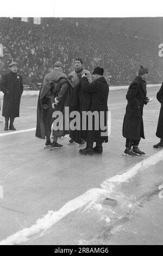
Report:
[[[135,77],[130,84],[126,99],[126,115],[123,121],[123,137],[139,140],[145,139],[143,126],[143,106],[147,104],[147,83],[141,76]]]

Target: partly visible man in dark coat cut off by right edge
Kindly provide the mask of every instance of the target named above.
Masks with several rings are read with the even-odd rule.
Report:
[[[161,89],[159,90],[157,94],[157,99],[161,103],[161,109],[160,109],[160,115],[159,115],[159,121],[158,121],[158,128],[156,131],[156,136],[160,138],[160,142],[156,145],[154,145],[154,148],[163,148],[163,83],[161,86]]]

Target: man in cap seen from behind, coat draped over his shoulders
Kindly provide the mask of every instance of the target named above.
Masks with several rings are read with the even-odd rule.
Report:
[[[69,133],[69,130],[53,130],[53,143],[51,142],[52,117],[55,111],[60,111],[64,115],[65,107],[70,105],[70,95],[72,93],[72,84],[67,76],[62,72],[64,66],[61,62],[54,64],[54,70],[46,75],[39,94],[37,103],[37,124],[36,137],[45,139],[45,145],[52,147],[62,147],[59,144],[58,137]],[[52,107],[53,104],[53,107]]]

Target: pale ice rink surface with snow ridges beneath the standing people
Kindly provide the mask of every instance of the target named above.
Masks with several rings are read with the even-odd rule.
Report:
[[[148,88],[148,97],[159,88]],[[109,93],[111,135],[103,155],[80,155],[68,136],[59,140],[65,148],[43,149],[34,130],[37,96],[22,97],[18,133],[0,123],[0,245],[163,244],[163,150],[153,149],[160,103],[144,107],[140,149],[149,158],[124,157],[126,92]],[[105,197],[117,206],[104,205]]]

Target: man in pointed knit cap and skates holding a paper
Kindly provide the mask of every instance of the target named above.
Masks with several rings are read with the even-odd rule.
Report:
[[[124,153],[129,155],[144,155],[139,149],[141,138],[145,139],[143,127],[143,106],[148,103],[147,97],[147,76],[148,69],[141,66],[139,75],[130,84],[126,99],[126,115],[123,122],[123,137],[126,138],[126,150]],[[133,148],[132,148],[133,147]]]

